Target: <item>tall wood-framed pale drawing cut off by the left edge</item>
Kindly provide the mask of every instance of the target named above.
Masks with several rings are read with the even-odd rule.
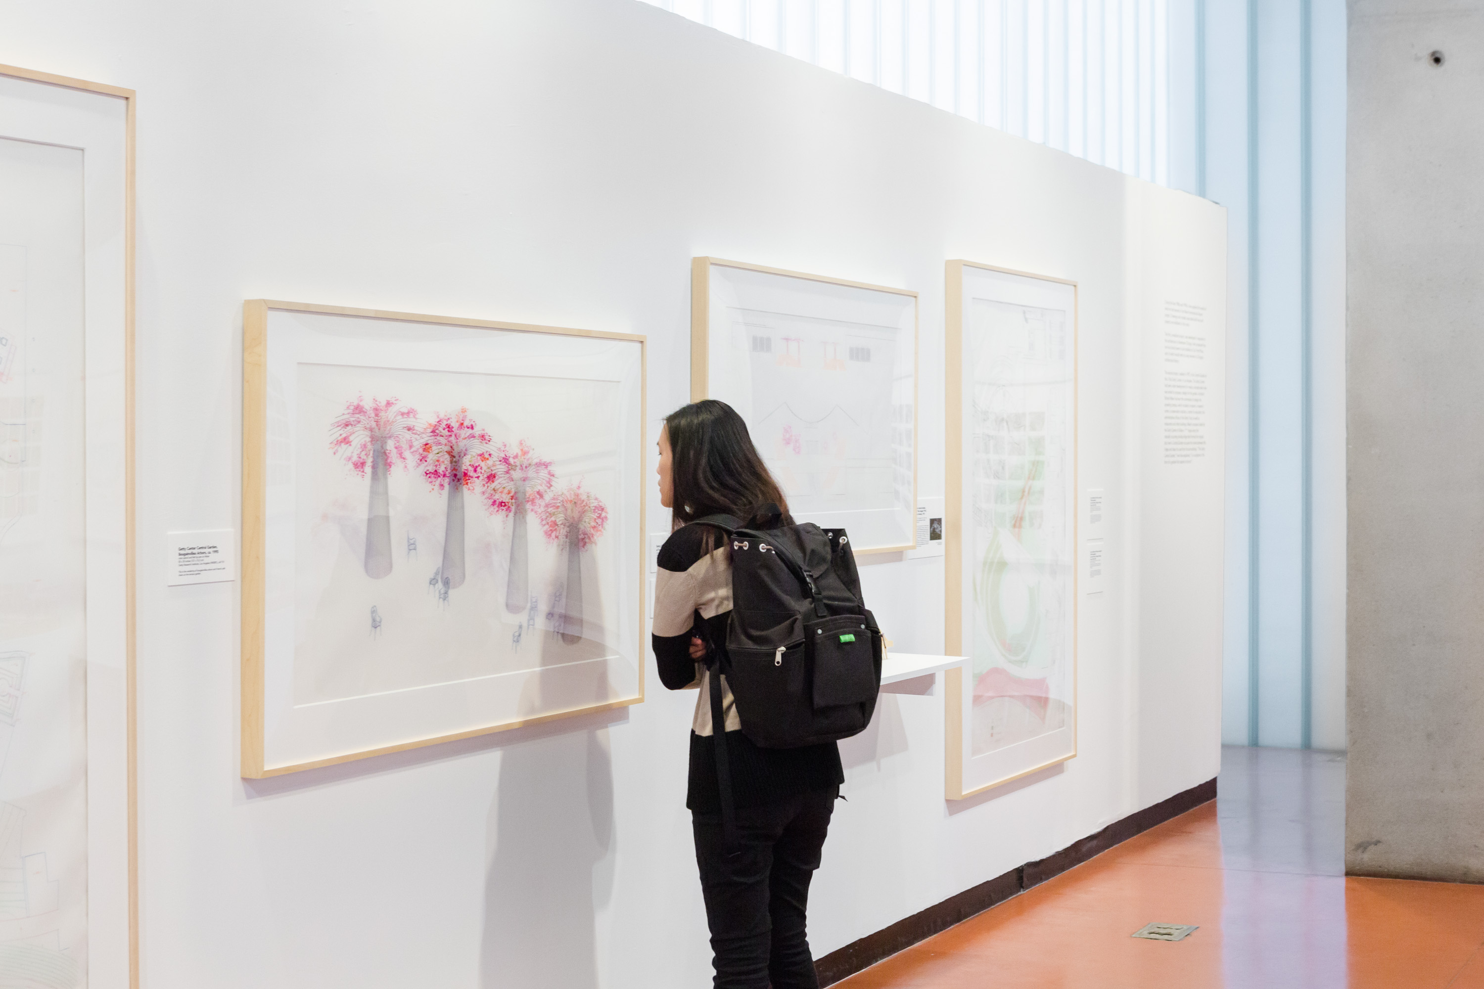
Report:
[[[138,985],[134,93],[0,67],[0,983]]]

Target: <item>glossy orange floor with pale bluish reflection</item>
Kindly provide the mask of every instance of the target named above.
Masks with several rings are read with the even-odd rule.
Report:
[[[1227,749],[1218,792],[837,985],[1484,989],[1484,887],[1342,875],[1343,756]]]

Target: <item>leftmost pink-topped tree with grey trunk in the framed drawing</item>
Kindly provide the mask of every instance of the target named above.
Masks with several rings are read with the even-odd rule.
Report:
[[[392,572],[392,513],[387,473],[407,469],[417,451],[417,409],[398,405],[396,399],[356,396],[346,402],[329,424],[329,452],[343,458],[358,477],[371,473],[371,501],[367,506],[367,577],[380,580]]]

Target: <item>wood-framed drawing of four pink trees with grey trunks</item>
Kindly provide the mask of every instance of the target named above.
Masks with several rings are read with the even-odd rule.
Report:
[[[644,698],[644,338],[243,307],[242,775]]]

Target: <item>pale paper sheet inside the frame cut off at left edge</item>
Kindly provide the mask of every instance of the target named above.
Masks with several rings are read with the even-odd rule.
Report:
[[[86,980],[83,411],[83,154],[0,138],[0,982]]]

